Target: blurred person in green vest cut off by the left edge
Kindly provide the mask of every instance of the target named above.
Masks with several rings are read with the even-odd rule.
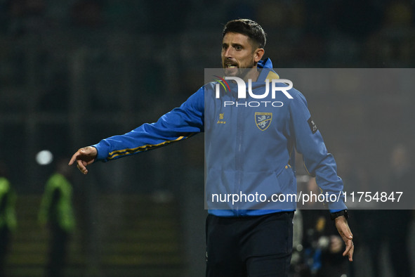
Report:
[[[11,232],[15,230],[16,195],[6,178],[6,165],[0,162],[0,277],[5,277],[6,256],[11,240]]]

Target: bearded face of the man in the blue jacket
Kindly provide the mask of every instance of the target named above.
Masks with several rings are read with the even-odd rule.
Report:
[[[222,67],[226,75],[239,75],[239,68],[253,68],[262,58],[263,49],[254,48],[254,43],[244,34],[228,32],[222,40]],[[261,53],[258,53],[258,50]]]

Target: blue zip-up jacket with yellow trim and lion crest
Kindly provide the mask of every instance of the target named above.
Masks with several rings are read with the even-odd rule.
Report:
[[[253,94],[257,95],[263,92],[265,79],[278,78],[272,71],[270,59],[261,60],[258,67],[262,71],[258,80],[252,83]],[[269,94],[263,99],[238,99],[237,94],[231,92],[236,91],[235,88],[232,90],[236,84],[228,84],[230,91],[222,91],[220,98],[216,98],[216,83],[211,82],[157,122],[103,139],[93,145],[98,150],[97,160],[115,160],[204,131],[205,201],[209,213],[238,217],[296,209],[295,200],[271,200],[272,195],[296,194],[293,168],[296,148],[303,154],[305,168],[316,177],[323,193],[336,195],[338,201],[329,202],[329,209],[332,212],[345,210],[341,195],[343,182],[336,174],[336,162],[327,153],[304,96],[296,89],[289,89],[287,92],[292,99],[280,91],[275,98]],[[246,196],[232,202],[236,195],[239,198]],[[253,195],[256,200],[251,201]],[[258,201],[258,195],[263,195],[261,201]],[[228,199],[224,200],[225,197]]]

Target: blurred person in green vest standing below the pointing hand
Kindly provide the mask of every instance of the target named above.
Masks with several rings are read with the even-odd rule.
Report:
[[[39,223],[48,225],[50,243],[46,276],[63,276],[67,245],[70,234],[75,228],[74,211],[72,207],[72,184],[68,180],[68,170],[65,160],[59,160],[56,171],[48,179],[44,195],[41,199]]]

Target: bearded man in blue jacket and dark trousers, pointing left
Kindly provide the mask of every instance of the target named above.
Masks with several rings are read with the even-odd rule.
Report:
[[[261,60],[264,46],[265,32],[256,22],[246,19],[228,22],[223,30],[221,53],[226,75],[244,81],[251,79],[252,86],[263,84],[270,77],[277,78],[270,59]],[[223,101],[235,103],[239,98],[230,91],[222,94],[222,99],[213,98],[216,84],[211,82],[202,86],[180,108],[173,109],[153,124],[143,124],[122,136],[112,136],[79,149],[69,165],[77,162],[79,170],[87,174],[86,166],[97,160],[133,155],[204,131],[209,207],[206,276],[288,276],[295,202],[294,206],[293,203],[281,207],[276,204],[278,207],[271,209],[254,205],[236,207],[228,202],[223,208],[216,206],[209,193],[221,191],[226,194],[234,184],[241,193],[242,190],[282,194],[296,191],[294,169],[291,168],[294,147],[303,153],[305,166],[316,176],[320,187],[330,194],[339,193],[343,183],[336,174],[336,164],[311,120],[305,98],[298,91],[289,90],[293,99],[280,105],[279,110],[272,105],[261,110],[266,112],[258,115],[268,115],[267,121],[261,120],[255,125],[255,110],[223,111]],[[235,84],[229,82],[228,86]],[[277,97],[285,96],[279,94]],[[277,119],[272,120],[272,112],[278,115]],[[254,129],[261,135],[253,136]],[[352,261],[353,236],[346,220],[346,207],[342,199],[337,204],[333,209],[329,206],[331,217],[346,245],[343,256],[348,255]]]

